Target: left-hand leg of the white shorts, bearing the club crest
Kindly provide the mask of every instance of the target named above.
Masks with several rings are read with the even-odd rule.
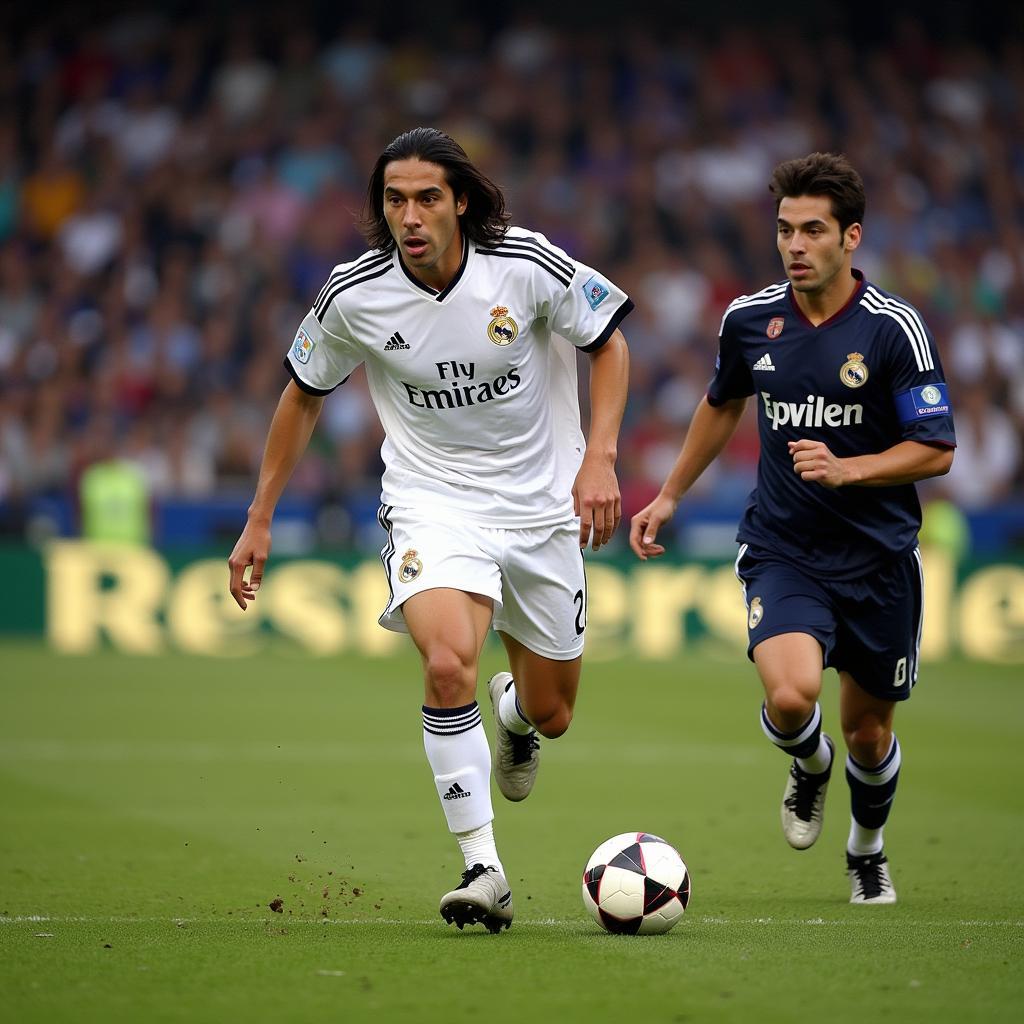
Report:
[[[380,616],[385,629],[410,632],[406,604],[428,591],[462,591],[501,603],[501,570],[487,531],[454,516],[389,506],[381,506],[378,520],[387,531],[381,550],[389,590]]]

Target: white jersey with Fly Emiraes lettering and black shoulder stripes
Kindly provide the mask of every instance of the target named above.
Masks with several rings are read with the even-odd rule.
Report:
[[[632,308],[543,234],[512,227],[493,247],[464,242],[441,292],[397,250],[335,267],[285,365],[312,394],[366,365],[386,435],[384,505],[539,526],[573,515],[575,349],[599,348]]]

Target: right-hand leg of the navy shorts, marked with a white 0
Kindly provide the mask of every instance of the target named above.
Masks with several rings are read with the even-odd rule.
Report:
[[[861,581],[840,609],[833,667],[871,697],[906,700],[918,681],[924,625],[920,552]]]

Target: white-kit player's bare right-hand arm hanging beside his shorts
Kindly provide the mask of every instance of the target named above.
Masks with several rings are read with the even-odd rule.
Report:
[[[590,436],[572,484],[581,548],[587,547],[592,534],[594,551],[607,544],[623,517],[615,458],[629,376],[629,350],[616,328],[600,348],[590,353]]]

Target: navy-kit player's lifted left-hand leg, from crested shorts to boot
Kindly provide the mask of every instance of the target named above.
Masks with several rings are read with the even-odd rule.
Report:
[[[797,850],[821,834],[834,745],[821,728],[821,672],[835,617],[821,587],[797,567],[757,558],[745,546],[736,559],[748,607],[749,656],[764,686],[761,728],[793,760],[779,811],[782,834]]]

